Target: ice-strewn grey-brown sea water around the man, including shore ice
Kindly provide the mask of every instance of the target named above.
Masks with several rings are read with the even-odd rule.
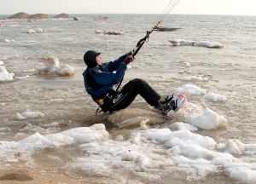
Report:
[[[124,83],[143,78],[160,95],[188,95],[179,115],[166,120],[141,97],[124,111],[95,116],[82,77],[84,51],[114,60],[159,15],[75,16],[2,20],[2,171],[19,165],[80,183],[256,182],[256,17],[169,14],[161,26],[181,29],[150,35]],[[224,47],[204,47],[214,43]],[[75,73],[42,74],[41,59],[52,56],[57,71],[68,65]]]

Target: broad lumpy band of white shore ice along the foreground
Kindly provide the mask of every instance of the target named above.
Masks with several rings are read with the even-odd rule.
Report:
[[[247,158],[256,154],[255,144],[238,140],[218,143],[189,130],[133,130],[126,139],[113,140],[103,124],[95,124],[57,134],[35,133],[20,141],[0,141],[0,158],[27,162],[32,161],[33,153],[68,145],[77,145],[81,154],[65,167],[86,175],[109,176],[114,170],[126,170],[151,177],[150,170],[186,170],[190,180],[197,180],[222,171],[238,182],[256,181],[255,165]]]

